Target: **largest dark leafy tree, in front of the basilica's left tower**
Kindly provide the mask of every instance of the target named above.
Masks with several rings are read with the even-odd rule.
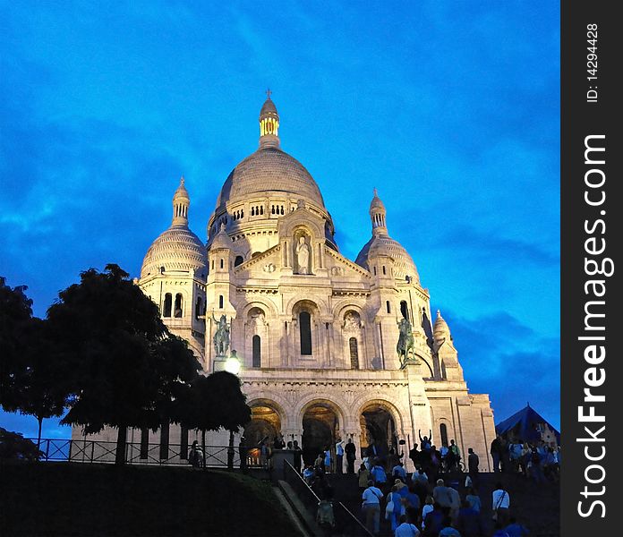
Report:
[[[90,268],[47,311],[59,353],[72,364],[75,399],[62,423],[85,433],[118,429],[115,463],[125,462],[128,427],[157,430],[198,368],[158,306],[117,265]]]

